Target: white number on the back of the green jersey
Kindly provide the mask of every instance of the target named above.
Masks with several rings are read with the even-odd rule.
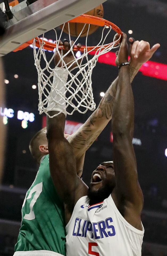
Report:
[[[32,197],[32,194],[35,192],[34,197],[31,200],[30,203],[30,213],[24,215],[24,219],[28,219],[31,221],[32,219],[35,219],[34,211],[32,210],[33,206],[36,203],[36,200],[38,199],[40,193],[42,192],[42,182],[36,184],[31,190],[27,198],[24,199],[23,206],[25,205],[25,202],[27,199],[30,199]],[[27,195],[26,195],[27,196]]]

